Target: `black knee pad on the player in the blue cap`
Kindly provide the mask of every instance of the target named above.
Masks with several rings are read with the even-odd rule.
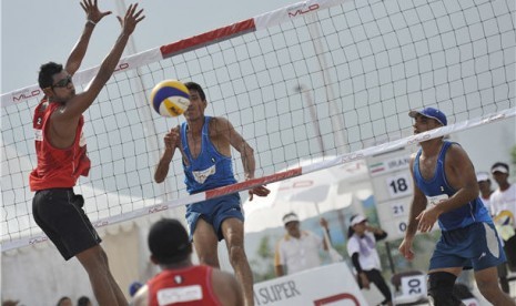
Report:
[[[454,296],[453,286],[457,276],[447,272],[434,272],[428,275],[428,297],[435,306],[462,305]]]

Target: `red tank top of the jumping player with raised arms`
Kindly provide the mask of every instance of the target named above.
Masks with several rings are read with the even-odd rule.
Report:
[[[43,99],[34,111],[32,126],[38,166],[29,176],[31,191],[73,187],[79,176],[88,176],[90,171],[91,162],[87,155],[87,145],[82,135],[84,125],[82,116],[77,126],[75,140],[70,147],[57,149],[47,141],[50,115],[58,106],[58,103],[49,103]]]

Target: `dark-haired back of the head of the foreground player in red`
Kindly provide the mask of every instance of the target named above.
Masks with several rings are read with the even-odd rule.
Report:
[[[189,234],[181,222],[163,218],[149,232],[149,249],[159,264],[173,264],[188,258],[192,253]]]

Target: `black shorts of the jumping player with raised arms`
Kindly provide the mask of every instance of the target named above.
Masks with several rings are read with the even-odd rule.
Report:
[[[38,191],[32,200],[36,223],[67,261],[101,242],[83,204],[84,198],[75,195],[73,188]]]

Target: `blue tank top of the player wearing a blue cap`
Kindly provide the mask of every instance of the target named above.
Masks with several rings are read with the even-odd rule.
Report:
[[[448,198],[457,192],[452,186],[449,186],[444,173],[444,159],[451,145],[452,142],[445,141],[443,143],[439,156],[437,157],[434,177],[431,180],[423,178],[419,172],[419,156],[422,153],[421,149],[417,152],[416,159],[414,161],[415,183],[417,187],[419,187],[419,190],[426,195],[428,198],[428,204],[431,205],[438,205],[439,200]],[[475,222],[486,222],[489,224],[493,223],[486,207],[479,197],[476,197],[464,206],[442,214],[438,218],[439,227],[443,231],[465,227]]]

